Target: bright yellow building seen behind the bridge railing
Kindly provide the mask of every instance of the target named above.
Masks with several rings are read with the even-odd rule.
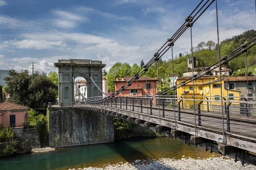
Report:
[[[240,96],[240,91],[234,91],[234,90],[227,90],[226,87],[224,87],[224,79],[226,77],[222,78],[221,84],[222,84],[222,96],[226,100],[237,100],[239,101],[238,97]],[[188,79],[187,77],[182,77],[177,79],[177,84],[180,82]],[[221,85],[220,85],[220,79],[219,77],[201,77],[197,80],[194,80],[194,90],[193,90],[193,82],[189,82],[186,85],[181,86],[177,89],[177,95],[179,98],[183,98],[183,106],[185,108],[192,108],[194,105],[193,95],[195,93],[195,103],[198,104],[201,99],[204,100],[215,100],[216,102],[211,102],[209,105],[212,105],[212,108],[214,105],[221,105]],[[203,102],[201,105],[202,109],[207,109],[207,102]],[[196,106],[197,108],[197,106]],[[209,107],[209,109],[212,109]]]

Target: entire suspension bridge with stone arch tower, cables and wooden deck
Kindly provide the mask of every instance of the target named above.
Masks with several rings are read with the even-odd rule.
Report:
[[[154,63],[157,65],[158,71],[160,58],[169,50],[172,52],[172,74],[174,75],[173,46],[175,42],[184,32],[189,31],[191,56],[193,56],[193,25],[196,24],[196,21],[210,6],[214,5],[218,62],[196,73],[192,68],[191,77],[177,82],[176,85],[164,91],[159,91],[157,94],[147,94],[146,96],[138,96],[138,94],[137,96],[131,96],[130,94],[129,96],[124,96],[124,93],[122,93],[123,95],[120,95],[125,89],[130,89],[131,84],[137,82],[141,76],[145,75],[147,77],[148,68]],[[51,105],[51,108],[72,106],[76,110],[92,111],[93,113],[103,113],[107,116],[118,117],[145,128],[166,133],[170,137],[183,139],[189,144],[204,146],[206,150],[218,151],[224,155],[231,155],[236,160],[241,160],[242,162],[250,160],[250,163],[256,164],[256,157],[254,156],[256,153],[256,97],[232,96],[230,98],[228,96],[228,88],[222,88],[224,81],[226,81],[227,85],[229,80],[221,75],[221,66],[226,66],[228,62],[241,56],[241,54],[245,56],[247,70],[247,50],[256,45],[256,37],[245,44],[241,44],[239,48],[236,48],[230,54],[221,57],[217,5],[217,0],[201,0],[196,8],[185,18],[185,22],[180,28],[172,37],[166,40],[140,71],[134,74],[134,77],[129,81],[124,82],[124,85],[111,95],[104,94],[101,88],[102,68],[105,67],[102,62],[78,59],[59,60],[58,63],[55,63],[55,67],[59,69],[59,105]],[[210,95],[205,95],[202,99],[201,96],[195,93],[197,88],[196,81],[209,75],[216,68],[219,69],[220,73],[218,79],[220,84],[219,99]],[[81,99],[74,101],[70,94],[73,93],[73,86],[76,85],[74,78],[79,76],[87,79],[87,89],[90,94],[88,94],[88,98],[80,94]],[[157,79],[159,82],[159,77]],[[172,82],[174,82],[174,79]],[[193,91],[190,97],[175,93],[189,83],[192,84]],[[160,89],[159,84],[158,89]],[[248,87],[249,80],[247,75]],[[173,92],[173,95],[168,95],[169,92]],[[102,96],[102,94],[105,96]]]

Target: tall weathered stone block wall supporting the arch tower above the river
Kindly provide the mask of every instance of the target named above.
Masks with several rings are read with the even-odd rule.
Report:
[[[66,147],[114,141],[113,118],[75,108],[49,108],[49,146]]]

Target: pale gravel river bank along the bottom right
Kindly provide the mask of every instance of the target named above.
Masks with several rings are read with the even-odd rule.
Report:
[[[207,159],[182,158],[179,160],[163,158],[159,160],[136,160],[131,163],[119,162],[102,168],[87,167],[69,170],[255,170],[256,166],[235,162],[229,157],[213,157]]]

